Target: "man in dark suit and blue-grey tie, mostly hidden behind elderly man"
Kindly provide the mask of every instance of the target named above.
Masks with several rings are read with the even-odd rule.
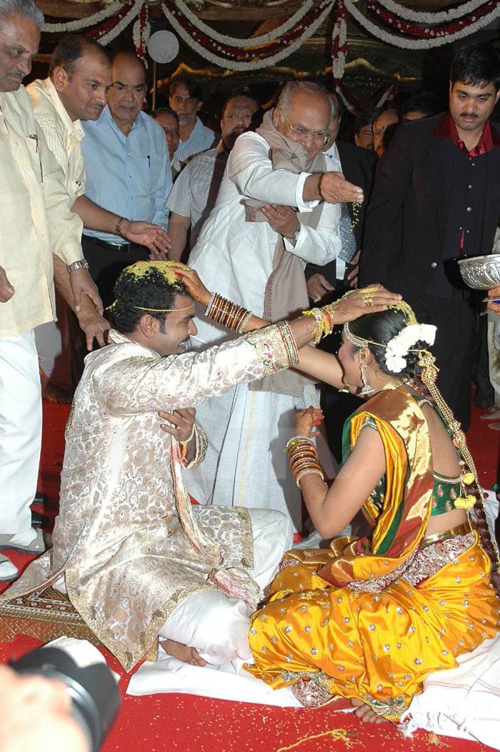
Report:
[[[373,151],[336,140],[341,123],[341,108],[336,94],[329,93],[329,97],[332,99],[333,114],[329,125],[330,139],[323,150],[327,169],[341,172],[346,180],[362,188],[365,202],[342,205],[339,227],[342,250],[338,259],[325,266],[314,264],[306,266],[308,294],[314,304],[323,298],[324,303],[335,300],[344,295],[351,283],[356,284],[356,259],[361,247],[366,199],[371,192],[377,162],[377,156]],[[348,276],[350,280],[347,279]],[[340,332],[335,331],[322,341],[321,348],[327,352],[336,353],[340,344]],[[347,417],[359,407],[360,402],[359,397],[341,394],[328,384],[322,386],[321,407],[325,416],[326,435],[330,450],[338,462],[341,462],[342,454],[342,426]]]

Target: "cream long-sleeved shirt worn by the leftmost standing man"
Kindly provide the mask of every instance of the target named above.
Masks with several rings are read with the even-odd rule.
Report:
[[[0,337],[56,318],[53,253],[83,259],[82,222],[23,86],[0,92],[0,266],[16,291],[2,303]]]

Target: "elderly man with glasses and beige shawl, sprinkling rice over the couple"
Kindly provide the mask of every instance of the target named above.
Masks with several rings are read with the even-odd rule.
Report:
[[[358,186],[326,166],[331,114],[321,86],[284,86],[262,126],[238,137],[189,257],[211,290],[267,320],[308,308],[305,263],[335,259],[338,202],[363,200]],[[202,346],[228,337],[206,319],[197,326]],[[296,374],[238,385],[205,402],[199,415],[211,444],[202,472],[190,474],[189,493],[200,502],[283,511],[299,532],[300,494],[282,447],[294,408],[311,404],[317,404],[314,384]]]

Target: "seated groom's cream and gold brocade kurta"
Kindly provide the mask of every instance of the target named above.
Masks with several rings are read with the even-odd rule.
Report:
[[[230,569],[253,564],[247,510],[189,503],[179,445],[158,411],[198,405],[296,361],[286,324],[166,358],[118,332],[111,342],[87,356],[74,397],[52,556],[33,562],[3,599],[64,572],[71,602],[129,671],[187,596],[256,590]],[[191,466],[205,453],[200,429],[196,438]]]

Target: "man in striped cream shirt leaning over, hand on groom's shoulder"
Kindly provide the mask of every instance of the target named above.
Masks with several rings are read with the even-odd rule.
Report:
[[[56,157],[65,176],[65,186],[71,197],[71,211],[82,220],[83,226],[103,232],[113,231],[120,215],[106,211],[85,196],[85,165],[83,163],[82,141],[85,135],[82,120],[97,120],[106,105],[106,95],[113,83],[111,60],[100,44],[83,35],[70,34],[61,39],[53,50],[49,63],[49,76],[44,80],[36,79],[26,87],[33,105],[35,120],[44,132],[45,141]],[[162,250],[165,245],[165,232],[156,225],[147,222],[121,223],[121,235],[135,243],[141,243],[156,249],[159,242]],[[120,238],[116,237],[117,242]],[[58,305],[59,308],[59,305]],[[92,334],[103,344],[102,332],[108,331],[107,320],[98,317],[95,310],[88,306],[82,315],[77,315],[78,325],[87,335],[87,349]],[[78,349],[80,337],[74,318],[70,317],[70,338],[73,352]],[[89,329],[92,330],[89,331]],[[64,361],[70,353],[60,358],[62,350],[61,335],[55,323],[38,327],[36,344],[41,367],[47,376],[51,375],[56,359]],[[83,355],[78,353],[80,368],[74,372],[77,381],[79,371],[83,370]]]

